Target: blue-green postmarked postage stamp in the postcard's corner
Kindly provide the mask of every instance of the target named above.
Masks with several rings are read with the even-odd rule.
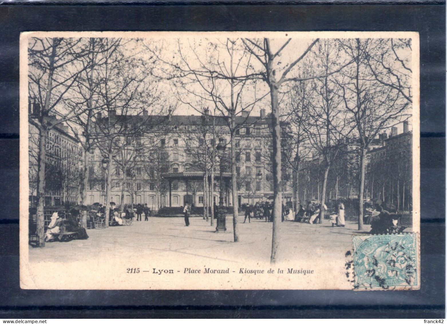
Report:
[[[354,289],[419,289],[418,245],[417,233],[354,235]]]

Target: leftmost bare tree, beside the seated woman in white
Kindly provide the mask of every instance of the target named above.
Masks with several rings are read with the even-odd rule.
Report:
[[[45,246],[43,207],[45,204],[46,143],[48,132],[84,111],[59,109],[67,91],[89,66],[79,67],[76,60],[89,54],[82,38],[30,38],[28,46],[29,95],[38,103],[34,112],[39,131],[37,185],[37,246]],[[53,117],[51,117],[53,116]],[[59,117],[55,118],[55,117]]]

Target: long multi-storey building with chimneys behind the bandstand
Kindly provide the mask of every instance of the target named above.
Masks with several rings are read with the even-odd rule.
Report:
[[[156,210],[163,206],[182,206],[189,201],[203,206],[205,186],[211,205],[218,204],[221,165],[224,204],[232,204],[227,116],[211,116],[208,111],[190,116],[148,116],[144,111],[139,116],[122,116],[111,111],[107,117],[97,115],[97,123],[110,127],[122,123],[138,126],[134,128],[136,132],[105,142],[114,146],[113,153],[108,155],[114,157],[108,170],[112,172],[110,197],[117,205],[148,204]],[[265,110],[259,116],[237,116],[234,134],[238,205],[268,199],[273,195],[270,118],[266,117]],[[226,147],[222,159],[216,150],[219,142]],[[105,146],[101,147],[100,143],[90,153],[88,204],[105,202],[107,168],[102,163]],[[215,180],[212,189],[211,171]],[[207,184],[203,180],[205,173]],[[290,200],[291,183],[285,180],[283,186],[284,200]]]

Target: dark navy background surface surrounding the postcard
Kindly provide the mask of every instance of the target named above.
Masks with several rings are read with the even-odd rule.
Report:
[[[3,4],[0,7],[0,317],[445,318],[445,9],[444,4]],[[21,290],[19,35],[29,30],[418,31],[421,290]]]

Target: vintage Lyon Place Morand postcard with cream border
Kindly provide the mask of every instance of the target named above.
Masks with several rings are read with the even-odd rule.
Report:
[[[22,289],[419,289],[418,33],[20,50]]]

